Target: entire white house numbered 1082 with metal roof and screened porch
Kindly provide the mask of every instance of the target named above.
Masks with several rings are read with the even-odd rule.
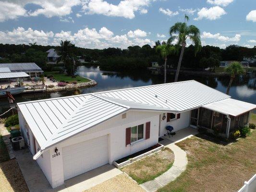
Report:
[[[22,135],[52,188],[158,143],[171,125],[228,137],[256,105],[194,80],[18,103]]]

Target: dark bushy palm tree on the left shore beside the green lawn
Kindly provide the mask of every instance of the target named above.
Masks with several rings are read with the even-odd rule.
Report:
[[[62,60],[67,73],[69,75],[73,74],[74,76],[74,45],[68,40],[61,40],[61,46],[57,49],[57,52],[60,56],[57,60],[57,64]]]

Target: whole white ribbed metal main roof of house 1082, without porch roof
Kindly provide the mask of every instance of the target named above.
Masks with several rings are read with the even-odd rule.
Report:
[[[230,98],[194,80],[18,103],[41,150],[128,110],[181,112]]]

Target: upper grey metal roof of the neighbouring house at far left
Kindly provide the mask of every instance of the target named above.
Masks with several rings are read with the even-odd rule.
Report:
[[[42,72],[36,63],[0,63],[2,67],[8,67],[11,72]]]

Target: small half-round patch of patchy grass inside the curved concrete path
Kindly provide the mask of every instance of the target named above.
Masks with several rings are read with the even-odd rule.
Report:
[[[174,154],[169,148],[165,148],[153,155],[135,161],[134,163],[121,168],[131,178],[144,183],[148,180],[154,180],[171,168],[174,161]]]

